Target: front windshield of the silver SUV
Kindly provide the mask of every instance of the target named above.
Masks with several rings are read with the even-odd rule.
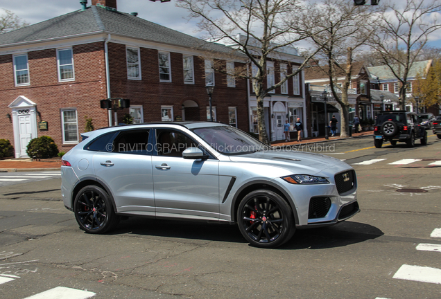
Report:
[[[267,145],[235,127],[202,127],[193,132],[222,154],[249,154],[268,149]]]

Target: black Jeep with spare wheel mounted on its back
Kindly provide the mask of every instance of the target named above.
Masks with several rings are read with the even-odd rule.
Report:
[[[427,144],[426,128],[418,121],[413,112],[395,110],[381,111],[377,114],[374,127],[374,145],[380,148],[383,141],[390,141],[391,145],[397,142],[406,142],[408,147],[415,146],[415,139],[420,139],[422,145]]]

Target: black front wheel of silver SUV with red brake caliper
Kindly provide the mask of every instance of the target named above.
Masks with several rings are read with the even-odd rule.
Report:
[[[270,190],[247,194],[237,209],[237,222],[243,237],[252,246],[261,248],[280,246],[295,232],[291,207]]]

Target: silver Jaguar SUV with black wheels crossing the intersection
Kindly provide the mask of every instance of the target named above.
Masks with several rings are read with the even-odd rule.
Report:
[[[238,224],[253,246],[359,212],[354,169],[274,150],[235,127],[181,122],[98,129],[62,157],[62,198],[86,233],[122,216]]]

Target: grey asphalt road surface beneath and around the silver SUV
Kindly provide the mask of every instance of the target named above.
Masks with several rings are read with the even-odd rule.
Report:
[[[96,299],[441,298],[441,252],[420,250],[441,245],[441,141],[319,145],[308,151],[355,168],[362,211],[336,226],[297,230],[273,250],[218,224],[133,218],[109,235],[87,235],[60,201],[60,179],[2,186],[0,283],[9,281],[0,297],[68,287]]]

